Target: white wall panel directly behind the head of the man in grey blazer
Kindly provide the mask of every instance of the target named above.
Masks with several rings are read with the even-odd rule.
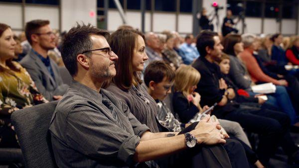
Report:
[[[45,6],[25,6],[25,23],[34,19],[46,19],[50,21],[52,29],[59,29],[59,8]]]

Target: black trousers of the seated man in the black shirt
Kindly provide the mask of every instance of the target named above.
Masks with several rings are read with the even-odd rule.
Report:
[[[259,108],[238,108],[228,113],[223,119],[236,121],[248,132],[259,134],[257,155],[267,165],[281,145],[288,155],[297,151],[288,128],[290,118],[283,113]]]

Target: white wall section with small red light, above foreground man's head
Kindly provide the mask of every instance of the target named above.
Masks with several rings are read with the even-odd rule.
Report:
[[[69,30],[76,21],[97,25],[97,0],[61,0],[61,28]],[[91,17],[90,12],[95,12]]]

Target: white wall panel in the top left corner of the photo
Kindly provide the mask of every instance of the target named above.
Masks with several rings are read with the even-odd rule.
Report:
[[[0,4],[0,22],[11,28],[22,28],[22,7],[19,4]],[[4,14],[5,13],[5,14]]]

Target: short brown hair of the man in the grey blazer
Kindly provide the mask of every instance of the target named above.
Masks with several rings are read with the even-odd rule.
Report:
[[[37,32],[37,30],[40,27],[48,25],[48,24],[50,24],[49,20],[36,19],[36,20],[28,21],[25,25],[25,35],[26,35],[28,42],[30,44],[32,44],[31,35],[34,33],[39,33],[39,32]]]

